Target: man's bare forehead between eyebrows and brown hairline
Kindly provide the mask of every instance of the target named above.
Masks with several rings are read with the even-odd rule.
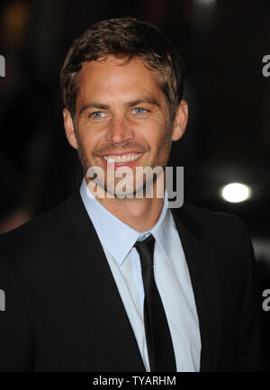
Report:
[[[125,59],[109,56],[85,62],[78,77],[78,100],[87,100],[90,95],[112,100],[114,97],[125,99],[152,95],[162,100],[164,96],[160,92],[157,71],[148,68],[139,58],[125,63]]]

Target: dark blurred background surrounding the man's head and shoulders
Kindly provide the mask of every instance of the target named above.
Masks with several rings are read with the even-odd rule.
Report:
[[[62,123],[59,71],[71,41],[90,24],[120,16],[156,24],[182,50],[190,120],[169,165],[184,166],[185,201],[246,223],[262,294],[270,288],[270,77],[262,74],[270,54],[269,0],[2,0],[0,231],[79,186],[82,171]],[[221,199],[220,187],[235,181],[251,186],[246,202]],[[270,312],[262,309],[261,316],[270,371]]]

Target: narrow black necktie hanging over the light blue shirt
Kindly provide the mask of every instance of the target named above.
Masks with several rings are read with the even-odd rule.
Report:
[[[166,313],[154,279],[153,253],[155,239],[137,241],[144,286],[144,327],[151,371],[176,371],[175,352]]]

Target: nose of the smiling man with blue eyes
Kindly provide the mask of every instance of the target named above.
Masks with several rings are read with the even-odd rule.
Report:
[[[130,122],[124,117],[112,118],[110,123],[106,141],[112,143],[122,143],[134,138],[134,130],[130,126]]]

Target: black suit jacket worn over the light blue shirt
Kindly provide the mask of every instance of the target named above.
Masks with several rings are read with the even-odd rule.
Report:
[[[188,204],[171,211],[193,285],[201,371],[256,370],[258,293],[245,228]],[[1,371],[145,370],[79,193],[1,236],[0,288]]]

